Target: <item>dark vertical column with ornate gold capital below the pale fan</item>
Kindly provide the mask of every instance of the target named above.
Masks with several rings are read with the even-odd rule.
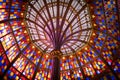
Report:
[[[51,80],[60,80],[61,52],[59,50],[53,50],[51,52],[51,56],[52,56]]]

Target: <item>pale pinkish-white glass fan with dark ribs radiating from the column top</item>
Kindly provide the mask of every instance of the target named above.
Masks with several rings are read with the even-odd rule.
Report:
[[[63,55],[74,53],[85,46],[91,36],[88,13],[83,0],[31,1],[26,14],[31,40],[45,53],[52,50],[60,50]]]

